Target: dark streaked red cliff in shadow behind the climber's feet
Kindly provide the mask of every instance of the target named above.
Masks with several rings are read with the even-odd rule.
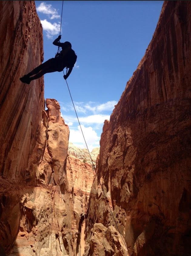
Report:
[[[31,86],[19,80],[43,61],[42,26],[34,2],[0,2],[0,34],[0,246],[8,252],[21,218],[19,190],[23,183],[35,182],[28,162],[44,115],[43,80]]]

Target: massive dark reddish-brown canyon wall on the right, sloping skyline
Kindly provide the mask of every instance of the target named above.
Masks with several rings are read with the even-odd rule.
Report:
[[[190,2],[164,2],[151,43],[105,121],[96,171],[108,204],[95,178],[85,256],[98,255],[98,247],[99,255],[123,255],[107,239],[111,226],[133,256],[190,255],[190,17]]]

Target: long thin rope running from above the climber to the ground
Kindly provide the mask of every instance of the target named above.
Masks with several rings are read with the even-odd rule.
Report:
[[[62,1],[62,9],[63,9],[63,2],[64,2],[64,0]],[[62,14],[61,14],[60,32],[61,32],[61,25],[62,25]],[[59,51],[60,51],[60,50],[59,50],[59,47],[58,47],[58,52],[59,52]],[[58,52],[57,52],[57,53],[58,53]],[[68,71],[68,69],[66,69],[66,74],[67,74],[67,71]],[[64,74],[64,70],[63,70],[63,74]],[[65,75],[65,74],[64,74],[64,75]],[[66,81],[66,79],[65,79],[65,81]],[[70,98],[71,98],[71,100],[72,100],[72,104],[73,104],[73,107],[74,107],[74,110],[75,110],[74,102],[73,102],[72,95],[71,95],[71,93],[70,93],[70,89],[69,89],[69,86],[68,86],[67,81],[66,81],[66,84],[67,84],[67,87],[68,87],[68,90],[69,90],[69,94],[70,94]],[[82,131],[82,127],[81,127],[81,124],[80,124],[80,122],[79,122],[79,118],[78,118],[78,114],[77,114],[76,110],[75,110],[75,114],[76,114],[76,117],[77,117],[77,119],[78,119],[78,123],[79,123],[80,129],[81,129],[81,131]],[[92,161],[92,166],[93,166],[93,168],[94,168],[94,170],[95,170],[95,166],[94,166],[92,157],[91,157],[91,155],[90,155],[90,152],[89,152],[89,149],[88,149],[88,145],[87,145],[87,143],[86,143],[86,140],[85,140],[83,131],[82,131],[82,135],[83,135],[83,138],[84,138],[84,141],[85,141],[85,145],[86,145],[86,148],[87,148],[87,150],[88,150],[90,159],[91,159],[91,161]],[[101,182],[100,182],[100,179],[99,179],[99,177],[98,177],[98,174],[97,174],[96,170],[95,170],[95,173],[96,173],[96,175],[97,175],[99,184],[100,184],[100,186],[101,186],[101,188],[102,188],[103,194],[104,194],[105,198],[107,199],[106,194],[105,194],[104,189],[103,189],[103,186],[102,186],[102,184],[101,184]],[[107,200],[106,200],[106,203],[107,203],[107,205],[109,206],[109,203],[107,202]],[[123,241],[123,243],[125,244],[125,246],[126,246],[126,248],[127,248],[127,245],[126,245],[126,243],[125,243],[125,241],[124,241],[124,239],[123,239],[123,237],[122,237],[122,234],[121,234],[121,232],[120,232],[120,230],[119,230],[119,228],[118,228],[118,226],[117,226],[116,220],[115,220],[115,218],[114,218],[114,216],[113,216],[113,213],[112,213],[112,210],[111,210],[110,206],[109,206],[109,209],[110,209],[110,212],[111,212],[111,214],[112,214],[113,220],[114,220],[114,222],[115,222],[115,224],[116,224],[116,227],[117,227],[117,229],[118,229],[118,231],[119,231],[119,234],[121,235],[122,241]],[[128,251],[128,253],[129,253],[128,248],[127,248],[127,251]],[[131,256],[131,253],[129,253],[129,255]]]

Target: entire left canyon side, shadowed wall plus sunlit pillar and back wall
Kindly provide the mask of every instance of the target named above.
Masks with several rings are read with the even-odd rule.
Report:
[[[19,78],[43,61],[33,1],[0,2],[0,254],[81,255],[92,165],[68,155],[59,103],[43,78]],[[82,244],[84,240],[82,239]]]

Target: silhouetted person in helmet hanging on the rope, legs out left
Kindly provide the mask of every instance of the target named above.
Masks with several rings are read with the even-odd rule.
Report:
[[[21,82],[29,84],[32,80],[40,78],[42,75],[51,72],[61,72],[64,68],[69,68],[64,79],[67,79],[72,72],[72,68],[76,62],[77,56],[72,50],[72,45],[70,42],[60,43],[61,35],[56,38],[53,42],[54,45],[62,47],[62,51],[57,53],[55,58],[51,58],[48,61],[45,61],[37,68],[33,69],[27,75],[24,75],[20,78]]]

